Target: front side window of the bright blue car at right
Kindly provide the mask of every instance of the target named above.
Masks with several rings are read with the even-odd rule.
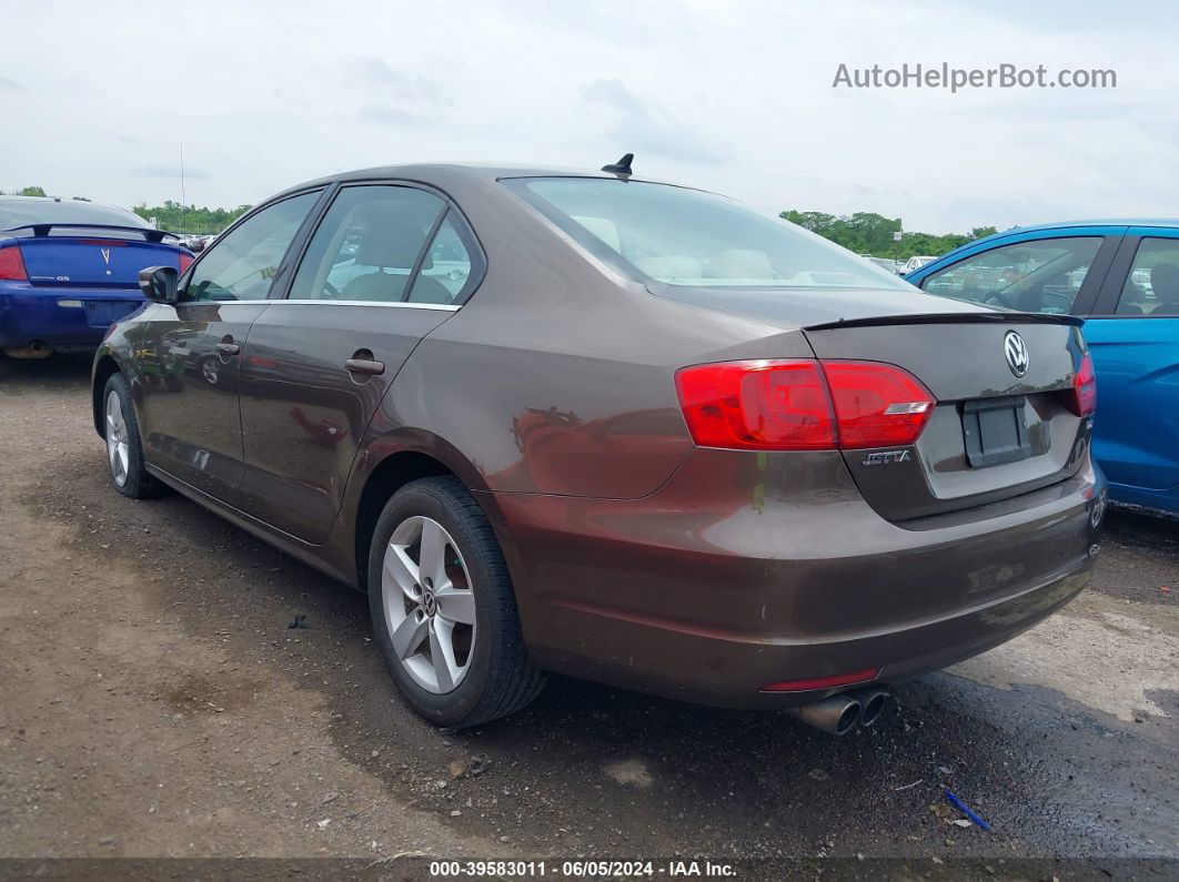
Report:
[[[1020,241],[960,260],[921,287],[988,306],[1067,314],[1100,247],[1099,236]]]

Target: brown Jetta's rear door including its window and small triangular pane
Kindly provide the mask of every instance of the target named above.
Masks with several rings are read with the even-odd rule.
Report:
[[[285,299],[250,332],[242,369],[242,505],[323,542],[389,385],[481,276],[456,207],[400,183],[340,188]]]

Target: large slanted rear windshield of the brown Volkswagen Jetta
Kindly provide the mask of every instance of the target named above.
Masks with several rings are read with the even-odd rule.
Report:
[[[910,290],[822,237],[698,190],[611,178],[503,183],[581,245],[640,279],[692,287]]]

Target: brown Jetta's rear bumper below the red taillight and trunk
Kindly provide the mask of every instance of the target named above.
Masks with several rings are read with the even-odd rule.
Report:
[[[1089,579],[1104,479],[898,526],[826,453],[697,450],[638,500],[482,493],[549,670],[723,707],[895,682],[1010,639]],[[819,489],[821,488],[821,489]]]

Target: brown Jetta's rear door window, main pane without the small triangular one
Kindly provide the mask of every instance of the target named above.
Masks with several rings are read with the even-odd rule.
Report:
[[[413,187],[344,187],[311,238],[290,298],[404,300],[409,277],[444,210],[436,195]]]

